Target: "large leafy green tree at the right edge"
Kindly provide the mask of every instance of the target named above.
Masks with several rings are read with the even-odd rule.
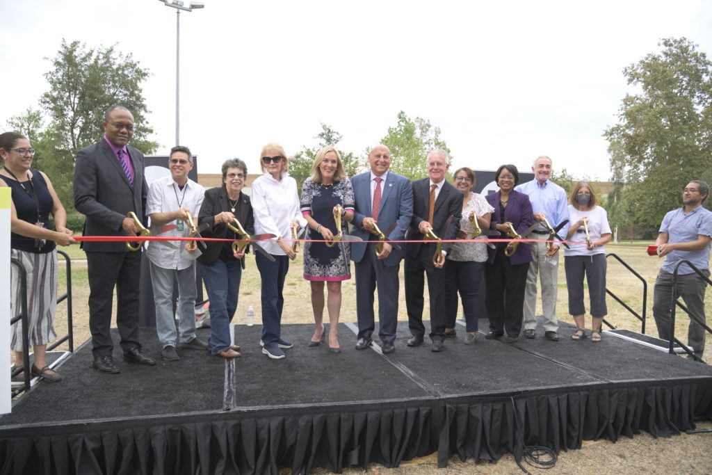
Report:
[[[658,226],[681,205],[685,184],[712,168],[712,62],[686,38],[659,46],[624,68],[640,92],[626,95],[619,123],[603,134],[618,187],[614,226]]]

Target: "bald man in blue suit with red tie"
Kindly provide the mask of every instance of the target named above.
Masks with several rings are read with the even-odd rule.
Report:
[[[372,343],[375,329],[373,292],[378,288],[378,335],[383,353],[395,351],[398,323],[398,271],[403,251],[383,242],[376,254],[377,243],[370,231],[374,224],[391,241],[402,241],[413,214],[413,191],[409,179],[389,172],[391,152],[385,145],[372,147],[368,154],[369,172],[351,179],[355,213],[351,234],[364,242],[351,244],[351,259],[356,269],[356,315],[358,319],[357,350]]]

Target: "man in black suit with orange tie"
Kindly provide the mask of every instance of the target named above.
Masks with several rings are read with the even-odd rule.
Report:
[[[426,239],[429,229],[440,239],[456,239],[460,229],[462,194],[445,181],[445,174],[450,167],[449,157],[444,150],[431,150],[426,160],[428,177],[413,182],[413,217],[406,240],[422,241]],[[450,248],[451,244],[444,243],[439,256],[435,256],[434,241],[409,242],[406,245],[405,303],[408,308],[408,325],[413,335],[408,340],[408,346],[423,343],[425,272],[430,296],[431,350],[442,351],[445,348],[445,275],[442,268],[446,265],[445,256]]]

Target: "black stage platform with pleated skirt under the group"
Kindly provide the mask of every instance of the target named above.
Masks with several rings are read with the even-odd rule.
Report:
[[[118,357],[119,375],[100,374],[85,344],[62,382],[42,382],[0,417],[0,474],[303,474],[434,451],[445,466],[452,455],[496,461],[528,445],[669,436],[712,417],[712,367],[605,333],[574,342],[573,330],[562,324],[557,343],[542,328],[516,343],[449,338],[433,353],[408,348],[399,322],[396,352],[382,355],[355,350],[355,325],[342,323],[335,355],[307,347],[313,325],[283,325],[295,346],[270,360],[261,326],[239,325],[239,360],[179,349],[169,363],[144,329],[157,366]]]

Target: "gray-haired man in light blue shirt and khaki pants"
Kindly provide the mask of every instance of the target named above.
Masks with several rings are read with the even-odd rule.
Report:
[[[532,172],[534,179],[520,184],[515,188],[518,192],[527,194],[534,212],[533,218],[541,225],[532,234],[525,236],[528,239],[540,239],[541,242],[531,243],[532,261],[529,263],[527,286],[524,295],[523,328],[526,338],[535,338],[537,294],[537,277],[541,279],[541,306],[544,315],[544,336],[547,340],[558,341],[559,323],[556,320],[556,293],[557,276],[559,270],[559,247],[553,243],[551,249],[546,249],[543,241],[548,238],[549,231],[543,224],[544,220],[556,227],[568,219],[566,192],[562,187],[550,181],[552,162],[549,157],[542,155],[534,160]],[[568,224],[559,230],[559,236],[566,236]]]

